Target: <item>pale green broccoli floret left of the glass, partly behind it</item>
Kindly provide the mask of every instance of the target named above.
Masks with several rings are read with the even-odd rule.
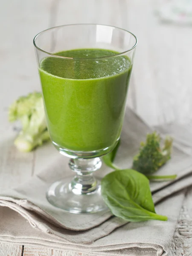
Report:
[[[16,120],[22,124],[22,130],[14,142],[20,151],[31,151],[49,140],[41,93],[29,93],[13,102],[9,107],[9,121]]]

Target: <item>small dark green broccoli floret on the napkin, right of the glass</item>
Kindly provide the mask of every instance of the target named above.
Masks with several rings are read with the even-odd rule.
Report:
[[[139,154],[134,157],[132,169],[150,175],[163,166],[171,158],[173,140],[166,137],[163,148],[160,141],[160,135],[156,132],[148,134],[146,142],[140,144]]]

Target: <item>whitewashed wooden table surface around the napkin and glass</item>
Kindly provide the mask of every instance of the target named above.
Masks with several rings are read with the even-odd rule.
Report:
[[[7,0],[0,24],[0,189],[19,184],[54,161],[52,145],[29,154],[13,146],[9,105],[40,90],[33,37],[52,26],[104,23],[134,32],[138,46],[128,105],[150,125],[192,122],[192,28],[160,22],[154,0]],[[179,250],[179,249],[178,249]],[[188,249],[188,253],[192,249]],[[61,256],[47,248],[1,244],[1,256]],[[180,254],[181,255],[181,254]]]

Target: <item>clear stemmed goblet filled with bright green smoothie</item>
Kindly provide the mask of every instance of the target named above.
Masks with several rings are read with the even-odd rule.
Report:
[[[120,137],[137,38],[113,26],[72,24],[40,32],[34,45],[50,138],[76,172],[53,183],[47,199],[73,213],[104,210],[93,172]]]

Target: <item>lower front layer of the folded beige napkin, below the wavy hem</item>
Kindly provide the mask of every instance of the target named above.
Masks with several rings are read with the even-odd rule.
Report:
[[[87,244],[69,243],[33,229],[17,212],[0,207],[0,242],[46,246],[64,250],[63,256],[167,256],[183,198],[180,192],[157,205],[157,212],[169,217],[167,222],[131,222]]]

